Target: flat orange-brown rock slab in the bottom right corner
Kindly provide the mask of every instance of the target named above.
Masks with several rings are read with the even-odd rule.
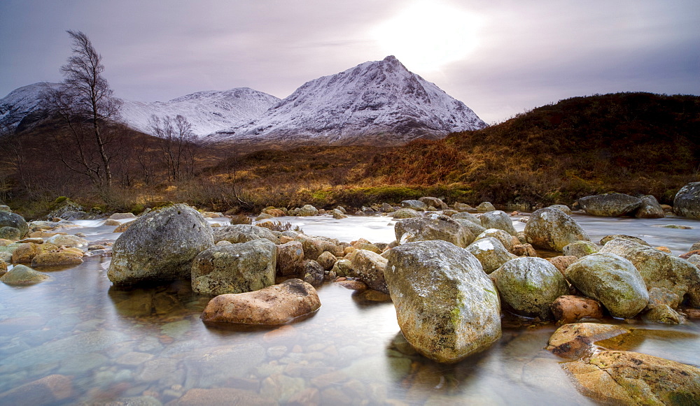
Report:
[[[562,368],[579,390],[610,405],[697,405],[700,369],[657,356],[598,351]]]

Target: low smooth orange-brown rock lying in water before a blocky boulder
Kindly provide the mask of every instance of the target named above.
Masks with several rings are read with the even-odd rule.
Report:
[[[209,300],[202,320],[237,324],[287,324],[321,307],[316,289],[298,279],[289,279],[247,293],[229,293]]]

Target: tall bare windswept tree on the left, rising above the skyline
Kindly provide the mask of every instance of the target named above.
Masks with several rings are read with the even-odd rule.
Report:
[[[63,124],[54,134],[60,161],[71,171],[90,177],[100,189],[112,184],[110,164],[116,152],[108,146],[110,121],[118,118],[121,101],[113,98],[102,76],[102,56],[82,31],[67,31],[73,55],[61,67],[64,80],[45,92],[45,107]]]

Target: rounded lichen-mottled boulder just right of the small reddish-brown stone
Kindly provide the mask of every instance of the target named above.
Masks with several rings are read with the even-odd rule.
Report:
[[[566,268],[565,273],[576,289],[602,303],[613,317],[635,317],[649,302],[642,275],[622,256],[590,254]]]

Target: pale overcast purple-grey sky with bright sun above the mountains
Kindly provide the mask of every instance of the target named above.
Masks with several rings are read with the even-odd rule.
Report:
[[[0,0],[0,97],[61,81],[68,29],[134,101],[284,98],[387,55],[488,124],[574,96],[700,94],[697,0]]]

